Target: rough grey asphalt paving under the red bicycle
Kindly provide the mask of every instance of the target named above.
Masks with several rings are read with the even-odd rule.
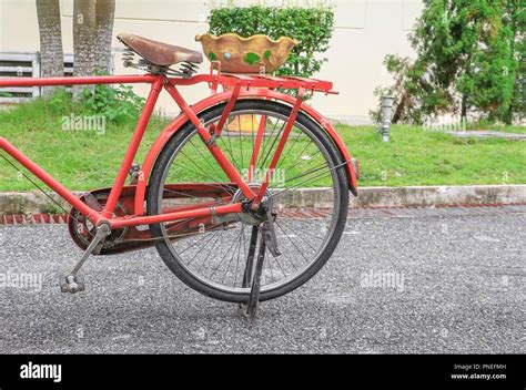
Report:
[[[61,294],[80,256],[65,226],[0,227],[0,352],[525,353],[526,209],[482,209],[354,215],[326,267],[252,328],[154,250],[90,260],[88,290]],[[42,289],[2,286],[19,273]]]

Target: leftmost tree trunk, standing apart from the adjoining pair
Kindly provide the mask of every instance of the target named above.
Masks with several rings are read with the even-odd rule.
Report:
[[[40,32],[40,74],[43,78],[64,75],[64,53],[60,23],[60,0],[36,0]],[[44,98],[57,88],[42,88]]]

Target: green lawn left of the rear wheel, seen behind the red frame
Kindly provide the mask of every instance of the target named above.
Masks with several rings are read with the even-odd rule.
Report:
[[[159,117],[152,117],[138,153],[138,162],[143,161],[148,147],[164,123]],[[108,123],[103,134],[95,131],[65,132],[62,130],[61,115],[41,101],[0,112],[0,135],[74,191],[113,184],[133,129],[134,123]],[[31,183],[0,158],[0,191],[33,189]]]

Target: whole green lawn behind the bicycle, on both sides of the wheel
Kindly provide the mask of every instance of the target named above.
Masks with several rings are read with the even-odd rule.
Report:
[[[152,119],[136,162],[143,161],[165,123]],[[75,191],[112,185],[133,127],[134,123],[108,124],[100,135],[64,132],[61,115],[41,101],[0,112],[0,135]],[[526,183],[524,141],[455,138],[395,125],[391,142],[383,143],[373,126],[338,126],[337,131],[361,162],[361,186]],[[184,176],[191,179],[192,175],[186,172]],[[0,191],[33,191],[33,186],[0,160]]]

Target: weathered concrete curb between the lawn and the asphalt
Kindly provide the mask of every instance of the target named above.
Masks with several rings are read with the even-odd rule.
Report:
[[[351,196],[351,207],[429,207],[526,204],[526,185],[362,187],[358,197]],[[81,193],[78,193],[79,195]],[[70,206],[52,195],[63,207]],[[283,196],[280,204],[324,207],[327,193],[323,188],[301,188]],[[2,214],[57,214],[61,211],[39,193],[0,193]]]

